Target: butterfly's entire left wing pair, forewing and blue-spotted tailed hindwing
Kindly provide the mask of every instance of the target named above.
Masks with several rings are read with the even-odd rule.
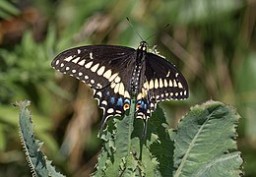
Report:
[[[123,115],[130,107],[127,75],[132,73],[135,57],[133,48],[89,45],[63,51],[51,66],[94,89],[98,106],[103,109],[102,128],[109,116]]]

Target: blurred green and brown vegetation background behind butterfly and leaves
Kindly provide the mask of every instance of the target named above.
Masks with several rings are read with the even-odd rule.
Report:
[[[145,39],[155,34],[148,43],[158,44],[189,84],[188,100],[160,103],[170,127],[209,99],[234,106],[245,176],[256,176],[255,19],[255,0],[1,0],[0,176],[31,176],[11,105],[24,99],[32,100],[35,136],[53,164],[68,176],[94,171],[101,112],[91,89],[50,62],[78,45],[137,48],[135,30]]]

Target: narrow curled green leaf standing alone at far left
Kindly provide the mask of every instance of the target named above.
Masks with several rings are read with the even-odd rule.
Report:
[[[55,170],[51,161],[47,160],[47,157],[40,150],[42,143],[34,139],[31,111],[27,108],[30,105],[30,101],[16,102],[14,105],[20,107],[20,137],[31,167],[32,175],[63,177],[62,174]]]

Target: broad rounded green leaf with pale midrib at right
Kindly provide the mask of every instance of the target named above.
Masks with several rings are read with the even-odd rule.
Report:
[[[234,141],[239,118],[217,101],[193,107],[175,136],[173,176],[239,176],[243,160]]]

